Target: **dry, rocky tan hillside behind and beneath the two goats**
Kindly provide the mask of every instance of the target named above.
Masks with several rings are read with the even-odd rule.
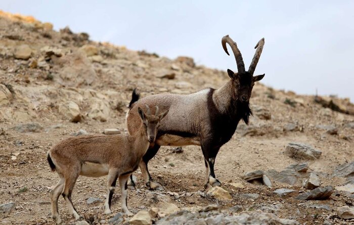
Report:
[[[133,88],[142,96],[188,94],[229,79],[225,71],[196,65],[189,57],[172,60],[131,51],[1,11],[0,37],[0,218],[9,224],[53,222],[49,192],[57,175],[49,172],[47,151],[71,136],[105,128],[126,132]],[[299,96],[262,84],[254,86],[250,102],[250,125],[239,125],[216,160],[222,190],[203,192],[199,147],[184,147],[180,154],[164,147],[150,166],[166,191],[147,190],[137,172],[138,189],[128,200],[132,211],[150,210],[157,224],[353,222],[354,105],[348,99]],[[105,216],[105,187],[105,177],[79,178],[73,201],[87,220],[124,223],[146,217],[144,211],[133,218],[118,213],[114,221],[114,214]],[[220,193],[226,197],[218,199]],[[116,195],[112,207],[117,212]],[[98,200],[89,203],[91,196]],[[216,206],[204,208],[210,204]],[[73,222],[64,201],[60,209]]]

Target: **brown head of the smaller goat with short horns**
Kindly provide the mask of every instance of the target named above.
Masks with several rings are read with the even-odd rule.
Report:
[[[155,115],[152,115],[149,106],[145,105],[145,107],[146,107],[146,114],[140,107],[138,107],[138,112],[140,118],[142,119],[143,126],[146,131],[146,136],[149,142],[152,143],[155,142],[157,128],[159,127],[160,121],[167,115],[168,110],[161,114],[158,114],[159,107],[156,106]]]

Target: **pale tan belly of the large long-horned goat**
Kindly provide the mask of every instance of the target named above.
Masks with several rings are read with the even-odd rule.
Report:
[[[156,144],[158,144],[159,146],[200,146],[200,140],[198,137],[186,138],[174,134],[164,134],[156,140]]]

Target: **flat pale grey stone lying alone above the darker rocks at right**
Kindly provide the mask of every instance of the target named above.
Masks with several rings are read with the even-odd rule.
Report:
[[[306,144],[289,143],[286,146],[285,154],[295,159],[318,159],[322,152]]]

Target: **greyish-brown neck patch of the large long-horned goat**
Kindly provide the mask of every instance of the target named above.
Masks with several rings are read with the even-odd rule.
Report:
[[[231,109],[236,105],[234,88],[230,80],[214,91],[213,102],[220,113],[230,113],[230,111],[233,111]]]

